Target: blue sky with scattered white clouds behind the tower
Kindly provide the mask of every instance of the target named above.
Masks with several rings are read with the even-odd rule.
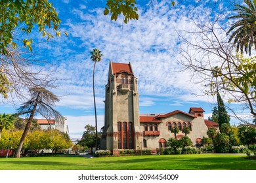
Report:
[[[192,20],[206,19],[203,6],[193,8],[179,1],[173,7],[169,0],[140,0],[139,20],[123,24],[121,17],[115,22],[104,16],[106,1],[51,2],[62,20],[62,36],[37,44],[37,58],[51,63],[53,76],[59,79],[52,92],[60,102],[54,108],[67,118],[71,138],[81,138],[85,125],[95,125],[94,63],[90,59],[94,48],[103,54],[95,70],[98,128],[104,125],[104,88],[110,60],[131,63],[139,80],[140,114],[188,112],[190,107],[202,107],[205,118],[211,116],[216,97],[203,95],[201,84],[195,84],[191,73],[179,63],[184,44],[180,35],[190,38],[187,31],[194,26]],[[36,33],[33,36],[41,39]],[[16,107],[5,101],[1,112],[14,112]],[[238,124],[234,119],[231,123]]]

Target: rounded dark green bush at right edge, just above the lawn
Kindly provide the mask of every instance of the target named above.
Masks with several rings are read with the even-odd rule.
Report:
[[[238,137],[243,144],[247,146],[256,144],[256,128],[244,125],[238,128]]]

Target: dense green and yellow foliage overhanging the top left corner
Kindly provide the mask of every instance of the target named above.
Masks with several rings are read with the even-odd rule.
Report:
[[[6,48],[12,45],[16,48],[18,44],[14,41],[13,31],[19,29],[26,34],[32,33],[34,27],[38,27],[42,36],[47,40],[53,38],[51,29],[60,36],[58,27],[60,18],[48,0],[27,0],[27,1],[1,1],[0,6],[0,54],[8,54]],[[36,26],[35,26],[36,25]],[[23,39],[24,46],[32,49],[32,39]]]

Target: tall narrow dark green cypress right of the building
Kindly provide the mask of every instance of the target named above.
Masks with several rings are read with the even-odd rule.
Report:
[[[217,101],[218,101],[218,122],[219,126],[221,127],[223,124],[228,124],[230,121],[230,117],[228,116],[228,112],[226,112],[226,108],[224,107],[223,99],[221,98],[221,95],[219,92],[217,92]],[[220,129],[221,131],[221,129]]]

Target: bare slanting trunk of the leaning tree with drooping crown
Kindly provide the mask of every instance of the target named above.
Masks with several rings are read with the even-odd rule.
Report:
[[[24,129],[24,132],[22,134],[22,137],[20,139],[20,144],[18,144],[18,149],[15,154],[15,158],[20,158],[20,152],[22,150],[23,143],[25,141],[26,135],[28,134],[28,131],[30,130],[30,125],[33,120],[33,115],[35,114],[35,108],[37,107],[37,100],[35,101],[35,105],[33,106],[32,112],[30,113],[30,118],[28,118],[28,123],[26,124],[26,127]]]

